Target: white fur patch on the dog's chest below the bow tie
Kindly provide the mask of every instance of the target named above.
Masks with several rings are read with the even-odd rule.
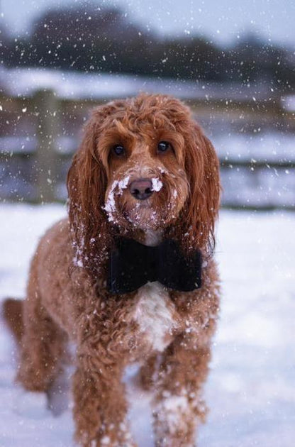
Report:
[[[160,282],[149,282],[140,287],[135,300],[133,319],[140,334],[153,350],[163,351],[177,327],[177,312],[169,294]]]

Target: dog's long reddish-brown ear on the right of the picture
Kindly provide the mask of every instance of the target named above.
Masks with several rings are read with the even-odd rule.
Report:
[[[211,141],[195,122],[191,121],[184,138],[190,193],[181,216],[182,244],[186,251],[199,248],[210,255],[215,244],[214,224],[221,192],[219,162]]]

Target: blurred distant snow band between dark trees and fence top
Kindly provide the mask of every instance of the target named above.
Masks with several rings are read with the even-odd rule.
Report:
[[[38,90],[53,90],[63,99],[111,99],[139,92],[172,94],[182,99],[227,99],[228,101],[276,100],[269,85],[262,83],[217,84],[187,79],[157,79],[138,75],[82,73],[35,67],[0,67],[0,85],[8,96],[31,96]],[[290,99],[290,101],[289,101]],[[293,104],[291,96],[282,104]],[[25,113],[25,112],[23,112]]]

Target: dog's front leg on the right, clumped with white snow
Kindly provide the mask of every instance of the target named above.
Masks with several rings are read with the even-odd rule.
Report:
[[[196,446],[198,419],[206,414],[201,387],[209,359],[209,346],[198,346],[191,334],[178,336],[165,351],[153,412],[157,447]]]

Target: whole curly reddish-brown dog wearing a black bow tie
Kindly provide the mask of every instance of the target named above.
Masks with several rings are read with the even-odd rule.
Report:
[[[220,295],[213,145],[178,99],[112,101],[91,114],[67,189],[68,218],[40,240],[26,300],[5,304],[17,380],[47,391],[72,341],[76,441],[135,447],[122,377],[138,362],[155,446],[195,446]]]

